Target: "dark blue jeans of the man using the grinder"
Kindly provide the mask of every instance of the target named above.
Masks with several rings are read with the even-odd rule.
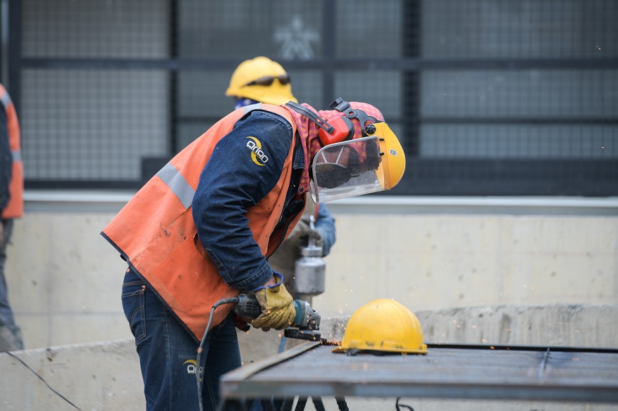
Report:
[[[199,410],[195,381],[199,343],[149,286],[132,270],[123,283],[123,310],[140,356],[147,411]],[[200,358],[204,411],[219,403],[219,378],[240,367],[240,348],[231,316],[211,329]]]

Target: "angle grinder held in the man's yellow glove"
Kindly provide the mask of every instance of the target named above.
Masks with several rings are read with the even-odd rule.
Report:
[[[243,318],[256,319],[261,314],[261,307],[253,294],[239,294],[238,302],[234,304],[232,310],[236,315]],[[319,341],[320,335],[320,315],[311,308],[307,301],[294,300],[296,315],[290,327],[283,331],[283,335],[290,339],[302,339]],[[247,324],[247,329],[249,325]]]

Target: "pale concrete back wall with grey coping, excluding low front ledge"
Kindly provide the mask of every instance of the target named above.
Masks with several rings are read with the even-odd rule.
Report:
[[[125,262],[99,235],[132,193],[27,192],[8,246],[26,348],[130,336]],[[357,198],[329,204],[323,317],[376,298],[414,310],[618,303],[618,198]],[[276,347],[278,348],[278,347]]]

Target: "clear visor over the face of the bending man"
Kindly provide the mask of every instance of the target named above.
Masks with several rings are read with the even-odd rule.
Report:
[[[311,165],[309,192],[314,203],[361,196],[388,189],[378,136],[329,144]]]

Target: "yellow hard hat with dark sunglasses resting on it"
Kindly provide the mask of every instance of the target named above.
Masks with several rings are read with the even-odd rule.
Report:
[[[245,60],[234,70],[225,96],[252,99],[268,104],[297,103],[292,94],[290,76],[268,57]]]

